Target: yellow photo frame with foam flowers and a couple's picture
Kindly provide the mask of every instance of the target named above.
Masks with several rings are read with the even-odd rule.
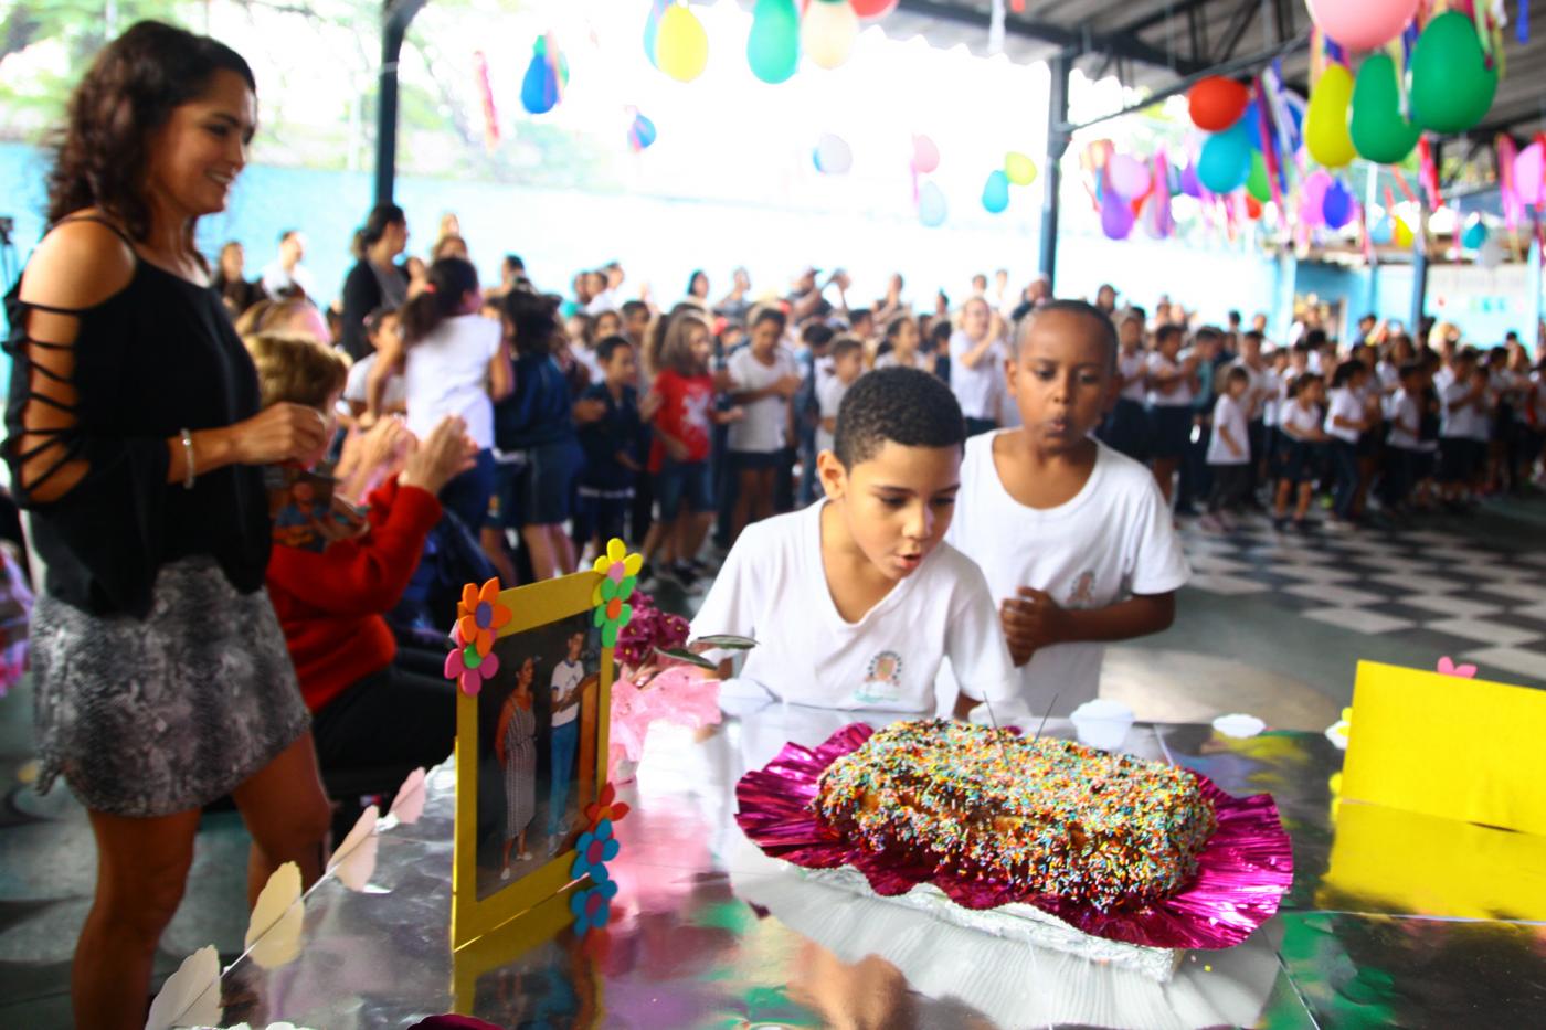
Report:
[[[453,950],[544,903],[557,908],[577,882],[584,812],[606,786],[612,645],[629,617],[620,583],[632,592],[632,577],[597,564],[464,594],[447,663],[461,684]]]

